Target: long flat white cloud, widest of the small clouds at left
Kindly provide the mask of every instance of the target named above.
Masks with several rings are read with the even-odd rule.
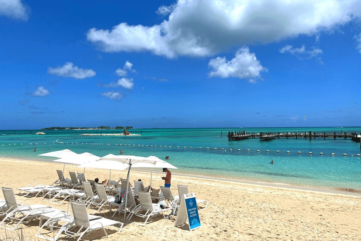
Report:
[[[62,77],[72,77],[74,79],[84,79],[96,75],[94,70],[79,68],[71,62],[65,62],[63,66],[59,66],[56,68],[49,67],[48,73]]]

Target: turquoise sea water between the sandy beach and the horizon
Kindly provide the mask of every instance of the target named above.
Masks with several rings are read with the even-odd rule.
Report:
[[[361,127],[134,129],[130,132],[140,134],[142,131],[142,135],[127,137],[79,135],[96,133],[96,130],[81,130],[78,133],[74,130],[52,130],[44,131],[45,135],[35,135],[39,130],[33,130],[32,135],[29,130],[4,130],[0,131],[0,134],[3,134],[0,135],[0,156],[53,160],[37,155],[48,152],[49,149],[56,151],[68,148],[77,153],[88,151],[103,156],[109,153],[117,155],[122,149],[126,155],[155,155],[161,159],[170,156],[169,162],[179,168],[173,171],[177,173],[301,186],[361,189],[361,157],[356,156],[361,154],[360,143],[351,139],[333,138],[316,138],[312,141],[303,138],[281,138],[269,142],[256,138],[229,142],[228,131],[238,130],[255,133],[360,133]],[[122,130],[101,132],[118,133]],[[184,146],[186,148],[183,148]],[[33,151],[34,147],[36,152]],[[206,147],[209,147],[209,150]],[[222,148],[225,150],[221,150]],[[251,151],[248,152],[247,149]],[[280,152],[277,153],[277,150]],[[301,154],[297,154],[298,151],[301,151]],[[323,155],[319,155],[319,152],[323,152]],[[332,156],[332,152],[336,155]],[[347,156],[343,156],[344,153]],[[274,164],[270,164],[271,160],[274,160]]]

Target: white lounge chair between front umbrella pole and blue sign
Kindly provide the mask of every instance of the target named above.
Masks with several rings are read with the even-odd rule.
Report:
[[[143,225],[145,225],[150,217],[162,213],[163,217],[165,218],[164,212],[173,210],[171,207],[162,209],[159,204],[152,203],[151,194],[148,192],[138,191],[138,195],[140,204],[132,211],[132,214],[128,220],[130,220],[132,216],[135,215],[141,218],[145,218],[143,223]]]

